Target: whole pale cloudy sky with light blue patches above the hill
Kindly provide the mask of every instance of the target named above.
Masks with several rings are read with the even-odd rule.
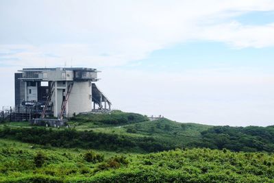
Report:
[[[97,68],[114,109],[274,125],[274,0],[0,1],[0,106],[23,67]]]

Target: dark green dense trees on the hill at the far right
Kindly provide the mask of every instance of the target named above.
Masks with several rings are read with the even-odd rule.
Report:
[[[201,136],[202,140],[193,146],[232,151],[274,151],[274,126],[219,126],[201,132]]]

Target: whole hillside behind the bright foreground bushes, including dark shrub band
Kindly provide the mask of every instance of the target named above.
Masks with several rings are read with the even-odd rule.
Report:
[[[3,123],[0,137],[53,147],[148,153],[175,148],[207,147],[232,151],[274,151],[274,127],[229,127],[149,121],[132,112],[82,114],[69,129],[32,127],[27,122]],[[42,137],[42,138],[41,138]]]

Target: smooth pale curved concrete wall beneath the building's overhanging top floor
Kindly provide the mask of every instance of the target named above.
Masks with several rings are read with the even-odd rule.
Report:
[[[68,102],[66,117],[73,113],[90,112],[92,110],[91,85],[89,82],[74,82]]]

